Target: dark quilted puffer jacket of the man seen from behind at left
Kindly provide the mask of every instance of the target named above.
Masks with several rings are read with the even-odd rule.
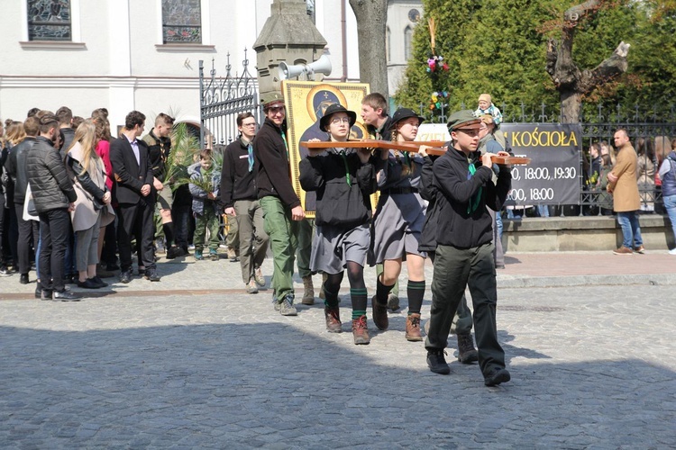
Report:
[[[50,139],[42,136],[36,138],[35,145],[28,150],[26,169],[38,212],[68,208],[69,203],[78,199],[66,172],[66,165]]]

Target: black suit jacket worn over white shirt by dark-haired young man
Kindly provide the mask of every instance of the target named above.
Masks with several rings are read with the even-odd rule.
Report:
[[[141,139],[136,139],[139,143],[139,160],[133,155],[132,144],[126,136],[113,139],[110,144],[110,163],[113,165],[114,184],[113,184],[113,202],[117,203],[138,203],[144,199],[146,202],[154,202],[154,195],[151,193],[147,197],[141,194],[143,184],[150,184],[152,187],[152,167],[148,160],[148,145]]]

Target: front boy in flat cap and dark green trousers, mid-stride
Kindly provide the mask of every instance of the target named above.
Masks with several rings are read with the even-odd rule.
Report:
[[[443,349],[448,344],[452,318],[469,284],[480,370],[484,384],[495,386],[508,382],[510,375],[505,368],[505,352],[498,343],[493,224],[486,207],[500,210],[511,187],[511,172],[509,166],[500,166],[498,181],[493,183],[494,154],[486,152],[479,160],[477,152],[480,123],[469,110],[453,113],[448,123],[452,147],[433,166],[439,212],[434,300],[425,348],[430,370],[450,374]],[[507,152],[498,155],[508,156]]]

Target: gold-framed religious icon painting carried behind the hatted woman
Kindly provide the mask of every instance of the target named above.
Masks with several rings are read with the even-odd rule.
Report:
[[[369,138],[366,125],[361,123],[361,100],[369,94],[369,85],[363,83],[321,83],[314,81],[282,81],[282,92],[287,106],[288,154],[291,165],[291,184],[308,219],[315,219],[316,194],[306,193],[300,187],[298,164],[307,156],[307,148],[298,145],[310,139],[328,140],[328,133],[319,130],[319,120],[329,105],[342,104],[357,113],[350,139]],[[375,198],[371,196],[375,207]]]

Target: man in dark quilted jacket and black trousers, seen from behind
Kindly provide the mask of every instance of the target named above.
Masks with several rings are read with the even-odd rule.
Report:
[[[59,151],[52,146],[59,133],[53,112],[41,112],[40,136],[28,151],[26,167],[33,202],[40,216],[41,249],[38,260],[41,299],[55,302],[79,301],[80,295],[66,291],[63,258],[69,239],[70,215],[78,199]]]

